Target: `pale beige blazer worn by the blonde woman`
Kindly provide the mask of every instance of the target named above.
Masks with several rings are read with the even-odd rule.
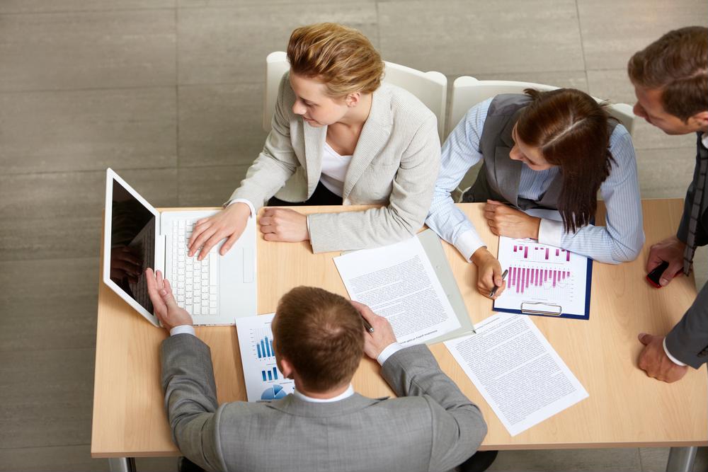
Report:
[[[326,127],[312,127],[292,113],[295,93],[283,76],[273,129],[230,200],[244,198],[256,209],[275,195],[304,202],[317,187]],[[384,205],[366,212],[309,217],[315,253],[384,246],[421,229],[433,200],[440,166],[437,120],[418,98],[382,84],[372,94],[344,181],[344,205]],[[277,195],[276,195],[276,192]]]

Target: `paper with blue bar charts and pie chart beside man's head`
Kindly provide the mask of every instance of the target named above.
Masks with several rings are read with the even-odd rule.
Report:
[[[236,320],[249,401],[278,400],[295,388],[293,381],[285,379],[275,364],[273,332],[270,330],[273,316],[275,313]]]

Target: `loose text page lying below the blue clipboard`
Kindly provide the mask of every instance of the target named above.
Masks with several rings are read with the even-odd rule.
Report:
[[[530,316],[500,313],[475,328],[445,347],[512,436],[588,398]]]

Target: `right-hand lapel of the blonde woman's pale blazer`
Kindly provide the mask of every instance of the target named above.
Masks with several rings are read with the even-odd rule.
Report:
[[[382,84],[371,98],[371,110],[349,163],[344,178],[343,200],[346,200],[359,178],[371,161],[380,154],[391,136],[393,118],[391,116],[391,93],[386,84]]]

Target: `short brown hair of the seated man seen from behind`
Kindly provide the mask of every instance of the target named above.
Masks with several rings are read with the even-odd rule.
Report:
[[[287,292],[271,328],[273,347],[310,391],[324,392],[350,381],[364,355],[359,312],[324,289],[295,287]]]

